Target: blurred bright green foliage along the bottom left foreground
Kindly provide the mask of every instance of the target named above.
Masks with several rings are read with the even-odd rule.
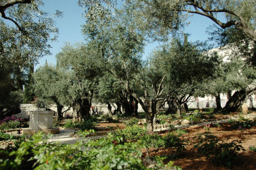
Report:
[[[76,144],[49,143],[42,137],[42,134],[35,134],[28,142],[20,144],[17,151],[9,154],[15,159],[1,160],[1,168],[19,168],[25,156],[33,153],[28,163],[35,160],[36,169],[146,169],[139,150],[142,145],[118,144],[122,139],[111,134],[96,141]]]

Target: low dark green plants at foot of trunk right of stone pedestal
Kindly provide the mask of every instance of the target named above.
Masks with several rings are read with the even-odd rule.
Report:
[[[72,121],[67,120],[66,124],[63,126],[65,128],[80,128],[81,130],[90,130],[95,128],[97,123],[95,123],[92,119],[86,121]]]

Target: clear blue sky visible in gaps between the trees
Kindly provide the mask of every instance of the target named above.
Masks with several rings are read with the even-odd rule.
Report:
[[[56,64],[56,54],[61,51],[61,47],[65,42],[74,44],[76,42],[83,42],[84,36],[81,31],[81,25],[84,24],[83,10],[77,5],[77,0],[44,0],[44,7],[42,8],[46,12],[54,13],[56,9],[63,12],[63,17],[56,19],[56,26],[59,28],[59,36],[56,42],[51,42],[51,56],[45,56],[39,59],[39,64],[35,66],[35,69],[40,65],[47,63]],[[200,15],[194,15],[191,19],[191,24],[186,27],[186,33],[191,34],[189,41],[195,42],[196,40],[207,40],[208,35],[205,33],[206,28],[213,24],[213,22],[206,17]],[[145,56],[148,56],[150,52],[156,47],[158,43],[148,44],[145,48]]]

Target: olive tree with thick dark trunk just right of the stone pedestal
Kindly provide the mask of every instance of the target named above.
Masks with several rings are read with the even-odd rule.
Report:
[[[90,42],[76,46],[65,45],[57,54],[57,67],[70,72],[68,95],[77,118],[88,120],[92,98],[104,71],[101,52],[97,44]]]

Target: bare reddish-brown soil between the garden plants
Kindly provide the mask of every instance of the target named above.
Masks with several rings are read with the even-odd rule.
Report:
[[[249,146],[256,146],[256,127],[246,130],[233,130],[228,123],[221,123],[221,127],[211,127],[209,132],[212,135],[216,135],[219,139],[225,143],[232,140],[241,140],[242,146],[246,151],[240,151],[237,161],[234,162],[234,166],[231,169],[256,169],[256,153],[249,150]],[[125,128],[124,123],[99,123],[97,126],[97,134],[107,134],[113,128]],[[112,128],[112,129],[113,129]],[[179,166],[182,169],[228,169],[224,166],[217,166],[209,160],[198,154],[194,148],[198,143],[194,137],[196,134],[204,133],[207,130],[204,127],[189,127],[184,128],[188,133],[181,136],[181,139],[188,142],[186,151],[176,160],[172,160],[175,166]],[[164,135],[164,134],[163,134]],[[154,149],[144,152],[143,155],[155,156],[155,155],[170,155],[173,152],[172,149]],[[169,161],[169,160],[167,160]]]

